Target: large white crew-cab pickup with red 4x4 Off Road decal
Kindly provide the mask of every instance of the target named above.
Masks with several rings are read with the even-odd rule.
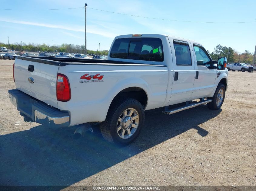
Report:
[[[107,60],[18,56],[17,89],[9,96],[25,121],[78,125],[78,134],[97,122],[107,141],[126,145],[138,137],[145,110],[172,114],[205,103],[219,109],[228,88],[225,65],[225,57],[214,61],[191,40],[122,35],[115,37]]]

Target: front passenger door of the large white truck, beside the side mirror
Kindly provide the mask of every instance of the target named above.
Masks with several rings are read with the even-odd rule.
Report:
[[[191,100],[208,97],[214,89],[217,70],[211,68],[211,57],[203,46],[193,44],[195,81]]]

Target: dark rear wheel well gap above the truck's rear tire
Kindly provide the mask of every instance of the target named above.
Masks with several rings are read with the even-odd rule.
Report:
[[[130,97],[130,98],[133,98],[135,100],[138,100],[145,107],[148,103],[148,96],[147,96],[146,92],[142,88],[138,88],[138,87],[125,88],[124,90],[120,91],[114,97],[113,100],[115,100],[119,96],[121,96],[121,97]]]

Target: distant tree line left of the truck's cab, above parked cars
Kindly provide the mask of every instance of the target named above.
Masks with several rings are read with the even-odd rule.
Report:
[[[8,44],[1,43],[0,46],[4,46],[8,49]],[[61,45],[54,45],[50,46],[45,43],[43,44],[34,44],[34,43],[14,43],[10,44],[10,49],[15,51],[21,51],[24,50],[25,52],[62,52],[62,53],[79,53],[84,54],[85,53],[85,45],[78,45],[78,44],[61,44]],[[108,55],[108,50],[88,50],[87,54],[101,54],[101,55]]]

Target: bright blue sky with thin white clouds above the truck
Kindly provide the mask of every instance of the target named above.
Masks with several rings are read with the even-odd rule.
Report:
[[[256,21],[255,0],[214,1],[115,1],[115,0],[2,0],[6,9],[87,8],[87,49],[109,49],[115,36],[134,33],[159,33],[198,41],[210,52],[218,44],[231,46],[242,53],[254,52],[256,22],[254,23],[191,23],[139,18],[97,11],[96,8],[124,14],[170,20],[202,22]],[[85,10],[7,11],[0,10],[0,42],[72,43],[84,44]]]

